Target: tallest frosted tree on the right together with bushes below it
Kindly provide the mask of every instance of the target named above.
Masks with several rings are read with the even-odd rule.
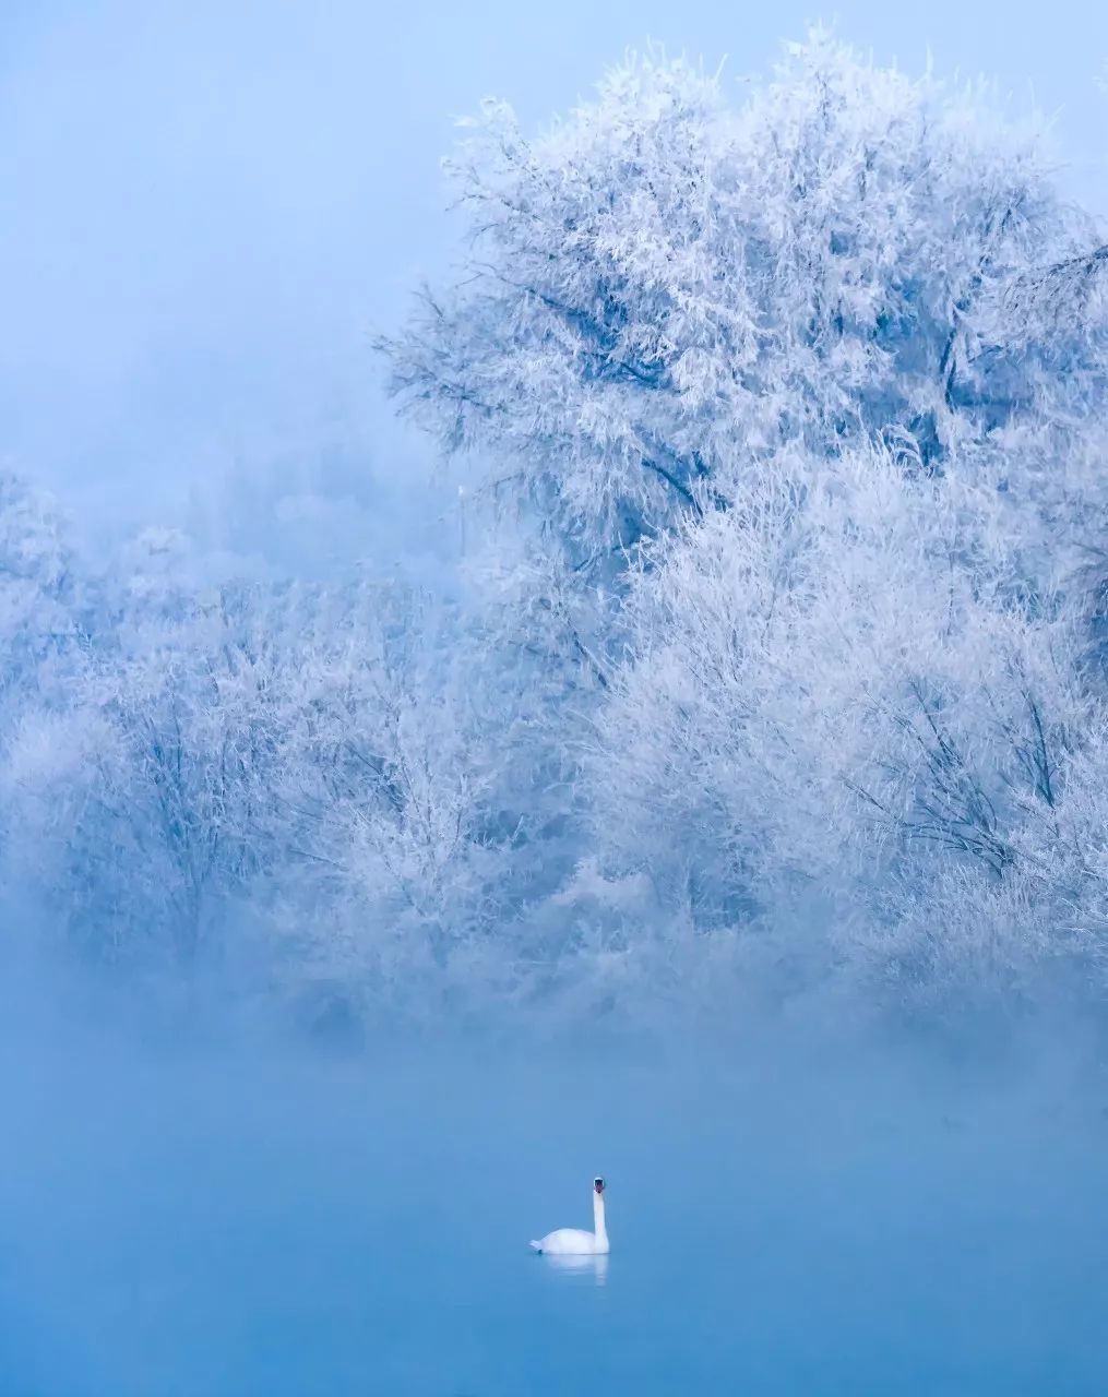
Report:
[[[819,894],[901,968],[931,897],[949,968],[1100,731],[1102,235],[988,88],[823,32],[741,106],[650,56],[471,131],[469,256],[384,348],[577,597],[604,876],[700,929]]]

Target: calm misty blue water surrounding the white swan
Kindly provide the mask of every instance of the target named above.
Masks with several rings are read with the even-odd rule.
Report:
[[[3,1080],[4,1397],[1108,1390],[1095,1092],[598,1053]],[[594,1172],[608,1263],[532,1256]]]

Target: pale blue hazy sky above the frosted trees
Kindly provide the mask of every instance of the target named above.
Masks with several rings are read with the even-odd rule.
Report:
[[[391,426],[366,341],[442,265],[439,158],[483,95],[539,123],[647,38],[734,75],[796,0],[217,0],[0,7],[0,460],[154,514],[231,460]],[[840,3],[844,38],[995,75],[1058,115],[1066,184],[1108,211],[1108,6]]]

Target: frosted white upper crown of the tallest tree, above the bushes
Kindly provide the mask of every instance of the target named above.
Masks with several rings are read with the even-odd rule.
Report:
[[[407,411],[509,460],[585,556],[729,499],[785,443],[876,433],[933,467],[1003,426],[1027,341],[1059,327],[1021,323],[1010,355],[993,303],[1088,253],[988,91],[823,34],[743,106],[727,91],[647,56],[537,140],[486,103],[449,162],[472,253],[386,345]]]

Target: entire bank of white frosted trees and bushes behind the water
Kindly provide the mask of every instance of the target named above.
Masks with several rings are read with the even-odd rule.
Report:
[[[328,1023],[1098,1000],[1108,263],[1035,123],[816,31],[461,137],[380,345],[460,567],[92,566],[0,478],[4,886]]]

